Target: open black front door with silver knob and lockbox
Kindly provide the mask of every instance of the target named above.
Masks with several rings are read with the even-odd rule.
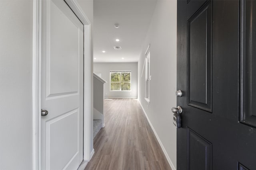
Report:
[[[178,170],[256,170],[256,1],[178,0]]]

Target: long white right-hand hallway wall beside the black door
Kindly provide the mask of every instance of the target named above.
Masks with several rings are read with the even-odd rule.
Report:
[[[158,0],[138,62],[139,100],[152,123],[171,164],[176,168],[176,127],[171,108],[176,106],[177,2]],[[145,100],[145,52],[150,44],[150,104]],[[147,109],[148,108],[148,109]]]

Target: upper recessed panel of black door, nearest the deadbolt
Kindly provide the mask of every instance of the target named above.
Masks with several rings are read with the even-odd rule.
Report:
[[[212,112],[211,1],[202,6],[187,25],[188,104]]]

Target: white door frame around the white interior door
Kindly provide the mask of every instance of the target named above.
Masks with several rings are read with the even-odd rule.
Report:
[[[76,0],[65,0],[84,25],[84,161],[91,158],[91,23]],[[42,0],[33,0],[33,72],[32,72],[32,162],[41,169],[41,35]],[[92,150],[93,152],[93,150]]]

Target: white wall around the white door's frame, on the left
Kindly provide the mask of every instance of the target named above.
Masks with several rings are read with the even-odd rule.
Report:
[[[78,3],[93,23],[93,0]],[[0,0],[0,23],[0,169],[31,170],[33,0]]]

